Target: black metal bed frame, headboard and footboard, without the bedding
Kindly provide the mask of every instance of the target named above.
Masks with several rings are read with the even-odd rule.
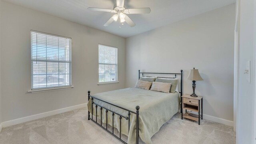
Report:
[[[183,84],[183,78],[182,78],[182,73],[183,70],[180,70],[180,73],[153,73],[153,72],[140,72],[139,70],[139,79],[140,79],[140,74],[142,74],[142,76],[144,76],[144,74],[170,74],[170,75],[174,75],[175,77],[172,78],[176,78],[177,75],[181,76],[181,81],[180,81],[180,95],[182,96],[182,84]],[[158,78],[170,78],[170,77],[158,77]],[[90,117],[90,111],[88,110],[88,120],[92,120],[93,122],[95,122],[96,124],[98,124],[98,126],[102,127],[104,130],[106,130],[108,133],[112,134],[112,136],[114,136],[115,138],[117,138],[118,140],[120,140],[121,142],[123,142],[124,144],[127,144],[126,142],[124,142],[124,140],[121,139],[121,120],[122,118],[124,118],[125,120],[128,120],[128,133],[130,132],[130,114],[136,114],[136,144],[139,144],[139,110],[140,110],[140,106],[136,106],[136,111],[134,112],[133,110],[128,110],[126,108],[122,108],[121,106],[117,106],[116,104],[112,104],[110,102],[106,102],[104,100],[100,100],[99,98],[95,98],[94,96],[90,95],[90,90],[88,91],[88,101],[92,100],[91,104],[92,104],[92,116]],[[123,110],[126,110],[128,112],[127,116],[123,116],[121,114],[118,114],[117,112],[114,112],[112,110],[109,110],[108,108],[105,108],[104,106],[100,106],[99,104],[96,104],[93,102],[94,99],[100,100],[102,102],[106,102],[107,104],[110,104],[112,106],[116,106],[118,108],[121,108]],[[181,102],[182,103],[182,98],[181,98]],[[93,105],[95,105],[96,108],[96,118],[95,120],[93,119]],[[97,122],[97,108],[100,107],[100,123]],[[106,128],[104,126],[102,126],[102,109],[106,110],[106,117],[108,117],[108,112],[111,112],[112,114],[112,131],[108,130],[108,119],[106,119]],[[180,108],[180,112],[182,113],[182,108]],[[114,134],[114,115],[118,115],[119,116],[119,122],[120,122],[120,128],[119,128],[119,137],[116,136]]]

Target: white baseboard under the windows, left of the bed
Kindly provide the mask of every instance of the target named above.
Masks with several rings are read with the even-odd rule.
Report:
[[[61,109],[58,109],[58,110],[52,110],[50,112],[43,112],[43,113],[35,114],[35,115],[32,115],[32,116],[26,116],[26,117],[23,117],[23,118],[18,118],[18,119],[15,119],[15,120],[9,120],[9,121],[6,121],[6,122],[2,122],[1,125],[0,125],[0,130],[2,128],[7,127],[7,126],[13,126],[13,125],[16,125],[16,124],[21,124],[23,122],[28,122],[28,121],[36,120],[36,119],[39,119],[39,118],[44,118],[44,117],[47,117],[47,116],[52,116],[52,115],[55,115],[55,114],[60,114],[60,113],[68,112],[68,111],[71,111],[71,110],[76,110],[78,108],[84,108],[84,107],[86,107],[86,105],[87,105],[87,103],[78,104],[76,106],[70,106],[70,107],[67,107],[67,108],[61,108]]]

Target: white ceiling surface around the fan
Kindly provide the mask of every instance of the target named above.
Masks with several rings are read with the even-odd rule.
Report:
[[[136,26],[124,22],[103,26],[113,15],[110,12],[87,10],[88,7],[113,9],[116,0],[5,0],[53,16],[77,22],[122,37],[129,37],[185,18],[196,16],[236,0],[125,0],[126,8],[151,8],[150,14],[129,14]],[[121,28],[119,28],[121,26]]]

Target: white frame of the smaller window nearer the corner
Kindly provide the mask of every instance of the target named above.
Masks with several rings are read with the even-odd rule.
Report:
[[[99,46],[107,46],[107,47],[111,47],[111,48],[116,48],[116,64],[107,64],[107,63],[100,63],[99,62]],[[116,80],[115,81],[108,81],[108,82],[99,82],[100,76],[99,76],[99,66],[100,64],[104,64],[104,65],[115,65],[116,66]],[[119,83],[118,81],[118,48],[116,46],[109,46],[106,44],[98,44],[98,85],[102,85],[102,84],[113,84],[113,83]]]

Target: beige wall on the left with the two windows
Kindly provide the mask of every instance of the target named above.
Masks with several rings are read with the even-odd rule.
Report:
[[[125,39],[8,2],[1,4],[3,121],[86,103],[92,94],[124,88]],[[72,38],[73,89],[28,93],[31,89],[30,30]],[[118,84],[98,86],[98,43],[118,48]]]

